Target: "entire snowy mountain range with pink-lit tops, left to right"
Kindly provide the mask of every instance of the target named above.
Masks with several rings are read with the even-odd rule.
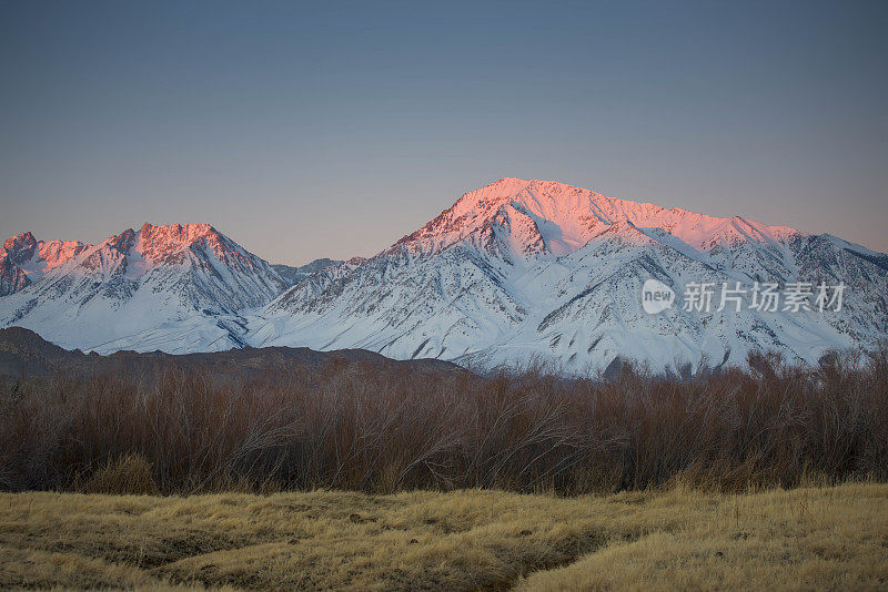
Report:
[[[675,306],[645,312],[649,279]],[[716,287],[714,306],[682,306],[702,284]],[[757,309],[767,284],[844,292],[824,310],[816,294],[798,309]],[[726,285],[740,288],[736,307],[719,306]],[[583,372],[625,359],[669,371],[743,364],[777,349],[815,364],[888,338],[886,289],[888,255],[828,234],[519,178],[466,193],[366,259],[271,265],[202,224],[145,224],[99,245],[26,233],[0,249],[0,327],[101,354],[362,348]]]

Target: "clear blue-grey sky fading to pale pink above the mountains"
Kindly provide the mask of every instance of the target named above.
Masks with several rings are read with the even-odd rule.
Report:
[[[888,252],[888,2],[0,0],[0,236],[373,255],[504,176]]]

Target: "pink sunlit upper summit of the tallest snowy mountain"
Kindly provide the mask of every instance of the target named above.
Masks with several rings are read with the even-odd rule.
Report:
[[[630,226],[618,224],[629,222]],[[537,178],[503,177],[462,195],[448,210],[396,245],[436,252],[471,241],[516,254],[569,254],[616,225],[635,234],[663,231],[697,251],[744,242],[780,243],[798,231],[746,218],[715,217]],[[632,228],[635,228],[633,231]],[[498,246],[497,246],[498,245]]]

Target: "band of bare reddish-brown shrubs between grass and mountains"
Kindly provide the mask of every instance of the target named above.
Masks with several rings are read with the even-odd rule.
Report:
[[[252,382],[176,368],[6,381],[0,487],[70,489],[97,467],[91,490],[163,493],[885,480],[886,351],[819,368],[751,355],[748,370],[690,378],[632,364],[601,380],[334,360]]]

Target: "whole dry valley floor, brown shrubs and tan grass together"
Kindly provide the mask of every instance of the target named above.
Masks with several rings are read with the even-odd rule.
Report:
[[[888,589],[886,481],[888,349],[0,379],[0,588]]]

